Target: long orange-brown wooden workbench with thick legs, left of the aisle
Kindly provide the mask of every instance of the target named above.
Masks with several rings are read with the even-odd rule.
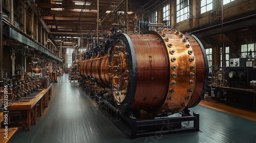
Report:
[[[31,123],[36,124],[37,115],[42,115],[42,108],[48,107],[48,100],[50,100],[51,94],[52,94],[52,85],[50,85],[48,88],[43,89],[40,93],[38,93],[35,98],[31,99],[29,102],[13,102],[9,107],[9,111],[20,111],[20,110],[27,110],[27,121],[25,124],[27,124],[28,131],[30,130]],[[37,103],[39,103],[38,106],[38,112],[37,112]],[[31,117],[31,109],[33,109],[33,114]],[[10,115],[9,122],[10,122]],[[20,122],[23,123],[23,122]]]

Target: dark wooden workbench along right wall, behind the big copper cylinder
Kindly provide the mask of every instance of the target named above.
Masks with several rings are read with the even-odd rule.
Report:
[[[248,89],[242,89],[242,88],[234,88],[234,87],[225,87],[225,86],[212,86],[212,88],[215,88],[217,90],[230,90],[230,91],[237,91],[237,92],[243,92],[253,95],[253,111],[255,111],[255,100],[256,100],[256,91],[248,90]],[[215,99],[217,101],[217,92],[215,92]]]

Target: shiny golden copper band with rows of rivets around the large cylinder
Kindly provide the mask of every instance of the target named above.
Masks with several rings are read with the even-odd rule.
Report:
[[[191,37],[174,30],[162,30],[154,33],[164,42],[170,75],[165,101],[158,112],[182,111],[192,96],[197,77],[197,58],[188,40]],[[195,76],[191,77],[190,73],[194,73]]]

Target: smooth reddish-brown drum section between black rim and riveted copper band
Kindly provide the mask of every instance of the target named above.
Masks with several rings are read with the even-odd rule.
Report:
[[[169,81],[169,62],[164,45],[153,34],[133,34],[129,37],[137,61],[137,87],[131,108],[155,109],[165,99]]]

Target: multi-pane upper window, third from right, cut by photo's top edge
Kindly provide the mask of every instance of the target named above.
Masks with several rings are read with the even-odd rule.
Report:
[[[187,19],[189,14],[188,0],[177,0],[177,23]]]

